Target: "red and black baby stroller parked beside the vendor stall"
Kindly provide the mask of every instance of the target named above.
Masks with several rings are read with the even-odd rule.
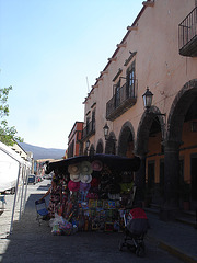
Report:
[[[137,256],[144,256],[146,247],[143,238],[149,228],[149,221],[144,210],[140,207],[132,208],[128,215],[124,210],[125,237],[119,241],[119,250],[127,247]]]

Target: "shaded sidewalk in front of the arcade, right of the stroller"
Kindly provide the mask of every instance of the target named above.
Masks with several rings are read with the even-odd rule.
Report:
[[[184,262],[197,262],[197,229],[177,221],[161,221],[154,214],[147,213],[151,228],[148,237],[160,247]]]

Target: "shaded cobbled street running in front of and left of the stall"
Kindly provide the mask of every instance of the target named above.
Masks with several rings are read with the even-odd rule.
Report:
[[[73,236],[53,236],[47,221],[42,221],[39,227],[35,220],[34,202],[46,192],[48,183],[49,181],[45,180],[28,186],[25,213],[20,221],[14,222],[13,233],[10,237],[7,238],[5,231],[3,233],[1,228],[1,262],[182,262],[160,249],[158,242],[148,237],[146,238],[147,254],[144,259],[141,259],[126,249],[124,252],[118,250],[118,241],[123,238],[123,233],[77,232]],[[13,196],[9,196],[7,199],[11,202]],[[9,204],[7,205],[9,207]],[[9,225],[8,217],[5,217],[8,213],[3,214],[0,216],[0,222],[2,224],[4,220],[5,226]]]

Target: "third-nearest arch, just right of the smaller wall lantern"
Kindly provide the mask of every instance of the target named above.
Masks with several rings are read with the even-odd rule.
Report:
[[[135,140],[135,132],[134,132],[132,124],[130,122],[126,122],[123,125],[121,130],[119,133],[118,155],[126,156],[128,144],[131,141],[134,142],[134,140]]]

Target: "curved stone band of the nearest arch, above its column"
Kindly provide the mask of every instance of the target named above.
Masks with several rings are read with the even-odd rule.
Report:
[[[175,96],[167,119],[166,140],[181,144],[185,115],[197,98],[197,79],[184,84]]]

